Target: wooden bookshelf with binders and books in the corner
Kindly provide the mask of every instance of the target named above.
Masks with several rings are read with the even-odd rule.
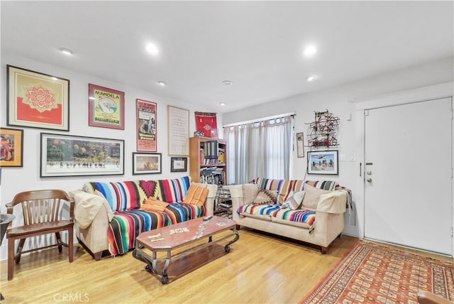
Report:
[[[204,158],[205,143],[218,141],[217,159]],[[225,139],[213,139],[211,137],[194,136],[189,139],[189,175],[195,183],[213,183],[218,185],[227,182],[227,141]],[[214,174],[209,174],[214,171]],[[209,174],[209,175],[203,175]]]

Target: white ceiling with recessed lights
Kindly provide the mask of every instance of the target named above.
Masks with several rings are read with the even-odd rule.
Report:
[[[453,56],[453,17],[453,1],[1,1],[1,50],[221,113]]]

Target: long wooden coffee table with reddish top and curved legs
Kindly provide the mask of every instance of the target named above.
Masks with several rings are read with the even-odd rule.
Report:
[[[232,233],[218,235],[216,238],[217,234],[226,230],[231,230]],[[170,261],[226,239],[230,240],[224,246],[224,250],[229,252],[230,245],[238,241],[239,238],[240,236],[236,231],[236,224],[233,220],[214,216],[204,221],[204,218],[200,217],[139,234],[135,239],[133,257],[147,264],[145,270],[153,271],[160,276],[161,283],[166,284],[169,282],[167,269]],[[208,239],[208,242],[199,242],[200,244],[190,246],[189,249],[172,256],[172,251],[175,251],[175,249],[195,243],[201,239]],[[149,249],[151,255],[145,252],[144,249]],[[165,252],[166,256],[157,257],[158,252]],[[158,269],[158,263],[162,264],[162,262],[164,262],[162,269]]]

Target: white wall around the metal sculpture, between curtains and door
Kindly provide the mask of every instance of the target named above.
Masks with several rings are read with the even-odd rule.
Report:
[[[382,94],[426,87],[445,82],[452,82],[454,79],[454,58],[445,58],[432,63],[424,63],[418,66],[409,67],[404,70],[396,70],[383,75],[369,77],[367,79],[350,82],[319,92],[299,94],[294,97],[267,102],[255,107],[241,109],[236,112],[223,114],[224,124],[233,124],[250,119],[260,119],[287,112],[296,112],[295,133],[304,132],[306,136],[307,124],[314,120],[314,111],[328,109],[333,115],[341,119],[340,133],[338,136],[339,156],[345,154],[345,161],[339,162],[339,175],[304,175],[306,172],[306,157],[297,158],[294,156],[292,179],[320,179],[337,180],[340,185],[350,188],[353,192],[355,208],[353,215],[345,215],[345,234],[362,237],[362,229],[359,224],[363,220],[362,206],[363,188],[357,183],[360,167],[359,158],[362,151],[358,148],[358,115],[355,110],[358,104],[353,102],[366,97],[375,97]],[[351,117],[351,119],[350,119]],[[348,120],[350,119],[350,120]],[[385,122],[384,122],[385,123]],[[422,140],[422,139],[421,139]],[[306,141],[306,137],[305,137]],[[307,152],[307,148],[305,148]],[[392,194],[390,194],[392,195]],[[350,224],[349,224],[350,223]]]

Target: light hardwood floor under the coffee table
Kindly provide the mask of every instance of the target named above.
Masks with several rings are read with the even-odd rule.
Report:
[[[74,246],[70,264],[66,248],[45,249],[24,254],[12,281],[1,261],[1,303],[298,303],[357,240],[337,238],[322,255],[316,246],[241,229],[228,254],[218,244],[172,261],[167,285],[131,252],[94,261]]]

